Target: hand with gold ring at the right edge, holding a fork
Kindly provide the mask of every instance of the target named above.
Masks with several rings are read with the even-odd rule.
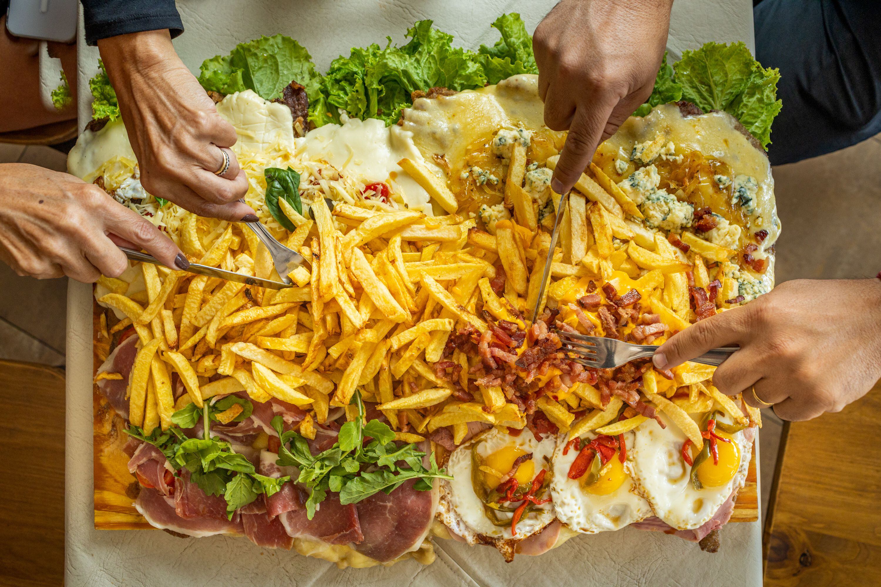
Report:
[[[701,320],[655,352],[669,369],[709,349],[740,345],[716,369],[722,393],[774,404],[784,420],[838,412],[881,378],[881,280],[796,280]]]

